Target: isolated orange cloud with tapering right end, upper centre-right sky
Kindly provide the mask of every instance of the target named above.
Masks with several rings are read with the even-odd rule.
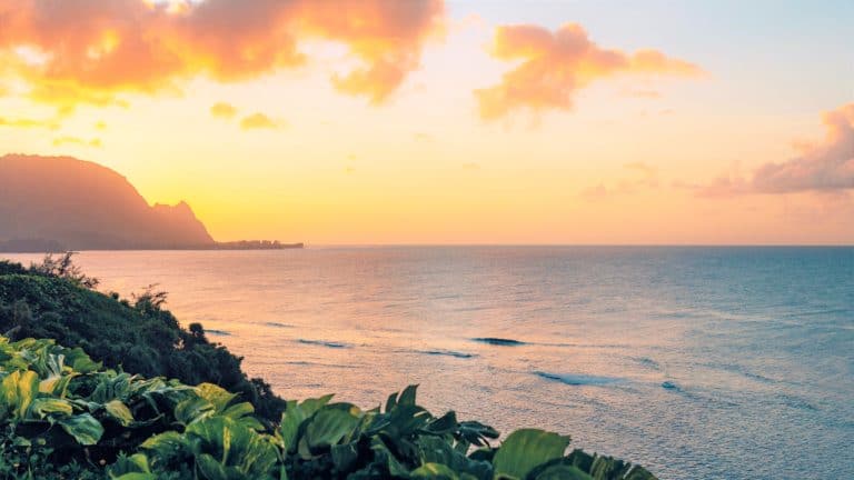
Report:
[[[603,49],[575,23],[566,23],[555,32],[532,24],[498,27],[491,54],[498,60],[520,63],[506,72],[500,83],[475,90],[485,120],[520,109],[570,110],[578,90],[618,73],[703,74],[699,67],[656,50],[625,53]]]

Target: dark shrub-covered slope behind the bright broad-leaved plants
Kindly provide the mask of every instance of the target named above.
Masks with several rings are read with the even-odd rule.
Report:
[[[281,417],[285,401],[269,384],[247,378],[242,359],[209,342],[200,324],[180,328],[162,308],[165,293],[152,286],[130,302],[91,290],[95,284],[68,254],[30,269],[0,262],[0,333],[60,340],[109,368],[145,377],[215,383],[252,403],[266,421]]]

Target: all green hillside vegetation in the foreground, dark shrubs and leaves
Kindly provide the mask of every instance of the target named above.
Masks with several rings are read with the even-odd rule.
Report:
[[[496,446],[491,427],[419,407],[415,386],[370,410],[332,396],[284,402],[200,326],[182,330],[162,296],[95,292],[69,260],[0,262],[0,478],[655,478],[537,429]]]

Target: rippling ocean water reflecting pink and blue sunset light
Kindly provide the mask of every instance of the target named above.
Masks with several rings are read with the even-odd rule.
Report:
[[[33,256],[7,256],[29,262]],[[286,398],[537,426],[663,479],[854,478],[854,249],[83,252]],[[493,339],[493,340],[489,340]],[[500,340],[497,340],[500,339]]]

